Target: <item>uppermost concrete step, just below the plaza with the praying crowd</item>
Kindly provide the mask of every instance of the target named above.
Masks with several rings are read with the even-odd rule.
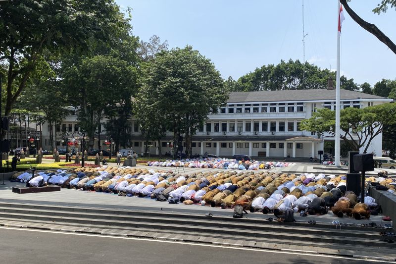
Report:
[[[75,209],[73,209],[75,210]],[[134,214],[117,214],[117,212],[111,211],[96,211],[96,210],[86,210],[83,213],[79,211],[58,211],[57,209],[51,210],[49,208],[39,207],[38,209],[25,209],[25,208],[8,208],[8,207],[0,207],[0,212],[4,213],[20,213],[20,214],[38,214],[38,215],[46,215],[52,216],[57,215],[61,217],[76,217],[76,218],[91,218],[91,219],[106,219],[106,220],[121,220],[121,221],[136,221],[136,222],[155,222],[155,223],[168,223],[172,221],[172,223],[177,223],[180,225],[190,225],[194,221],[199,221],[199,225],[208,226],[208,227],[225,227],[228,228],[241,228],[240,222],[230,222],[225,221],[227,217],[211,217],[207,218],[205,216],[200,216],[200,219],[190,218],[189,215],[180,215],[175,216],[167,213],[150,213],[145,212],[145,215],[141,215],[139,212],[135,212]],[[122,211],[121,211],[122,212]],[[166,215],[166,217],[164,217]],[[233,218],[234,219],[234,218]],[[234,219],[237,220],[237,219]],[[254,223],[244,224],[243,227],[249,230],[261,230],[261,231],[272,231],[272,232],[280,232],[280,233],[288,233],[290,229],[285,227],[282,223],[278,223],[276,221],[269,222],[264,220],[258,220]],[[367,239],[377,239],[379,234],[378,230],[376,231],[368,231],[368,230],[340,230],[328,228],[315,228],[315,226],[293,226],[293,233],[295,234],[310,234],[316,235],[320,232],[322,235],[326,236],[347,236],[347,237],[359,237],[359,238],[367,238]]]

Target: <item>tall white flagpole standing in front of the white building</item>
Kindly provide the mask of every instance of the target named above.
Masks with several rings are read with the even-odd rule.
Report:
[[[340,0],[337,0],[338,8],[337,8],[337,16],[340,20]],[[340,23],[341,21],[339,21]],[[340,166],[340,37],[341,32],[337,28],[337,76],[336,76],[336,139],[335,139],[335,165]]]

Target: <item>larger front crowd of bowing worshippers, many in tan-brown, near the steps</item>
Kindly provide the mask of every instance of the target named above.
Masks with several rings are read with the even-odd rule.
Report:
[[[395,194],[396,180],[383,176],[366,180]],[[241,205],[250,212],[279,214],[293,210],[306,216],[327,214],[331,210],[338,217],[364,219],[381,210],[372,197],[366,196],[364,202],[359,202],[355,193],[347,191],[345,175],[326,176],[322,173],[297,176],[265,170],[219,170],[176,174],[163,169],[102,166],[39,171],[33,178],[30,172],[18,172],[13,179],[26,182],[28,186],[53,184],[173,204],[200,204],[223,209]]]

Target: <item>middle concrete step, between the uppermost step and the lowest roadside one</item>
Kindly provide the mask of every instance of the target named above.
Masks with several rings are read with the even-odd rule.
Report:
[[[55,213],[54,213],[55,214]],[[311,243],[321,242],[321,243],[336,243],[336,244],[351,244],[354,245],[362,245],[362,246],[373,246],[373,247],[385,247],[385,248],[396,248],[395,244],[384,244],[382,241],[377,239],[364,239],[358,240],[356,237],[348,237],[348,236],[329,236],[323,235],[319,232],[320,235],[310,235],[310,234],[295,234],[295,233],[281,233],[281,232],[274,232],[274,231],[261,231],[261,230],[250,230],[250,229],[243,229],[245,226],[240,225],[239,229],[230,227],[228,225],[224,225],[222,227],[215,227],[215,226],[202,226],[201,222],[190,222],[188,224],[175,224],[172,221],[168,223],[158,224],[157,222],[151,222],[150,219],[147,219],[147,222],[137,222],[128,220],[111,220],[109,219],[95,219],[95,218],[84,218],[84,217],[67,217],[67,216],[59,216],[59,215],[42,215],[42,214],[26,214],[23,213],[11,213],[11,212],[0,212],[1,218],[9,218],[9,219],[18,219],[18,220],[46,220],[46,221],[53,221],[53,222],[77,222],[82,226],[86,224],[92,225],[108,225],[108,226],[134,226],[134,227],[141,227],[141,228],[151,228],[152,230],[184,230],[184,231],[192,231],[198,233],[213,233],[213,234],[227,234],[231,237],[233,236],[252,236],[252,237],[261,237],[267,239],[281,239],[281,240],[300,240],[300,241],[307,241]],[[293,229],[289,229],[289,231],[293,231]]]

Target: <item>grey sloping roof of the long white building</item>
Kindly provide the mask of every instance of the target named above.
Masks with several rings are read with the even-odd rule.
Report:
[[[341,100],[360,99],[386,99],[381,96],[369,95],[360,92],[341,89]],[[283,90],[260,92],[234,92],[230,93],[227,103],[244,102],[278,102],[278,101],[323,101],[336,100],[336,90],[310,89],[310,90]]]

